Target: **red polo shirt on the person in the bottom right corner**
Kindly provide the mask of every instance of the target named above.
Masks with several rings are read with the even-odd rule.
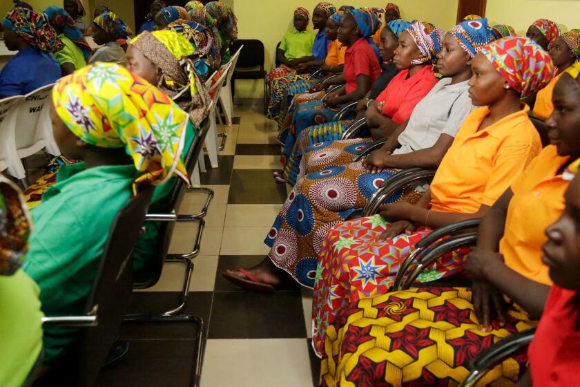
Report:
[[[554,285],[528,350],[534,387],[580,386],[577,292]]]

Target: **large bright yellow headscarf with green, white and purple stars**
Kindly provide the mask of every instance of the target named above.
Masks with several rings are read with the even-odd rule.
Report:
[[[136,186],[173,176],[189,181],[181,160],[188,115],[165,93],[117,64],[99,62],[57,81],[52,102],[87,144],[126,148],[142,174]]]

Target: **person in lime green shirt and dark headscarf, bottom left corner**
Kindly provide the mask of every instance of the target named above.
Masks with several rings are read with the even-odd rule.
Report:
[[[39,288],[20,269],[30,216],[20,190],[0,175],[0,386],[28,386],[42,352]]]

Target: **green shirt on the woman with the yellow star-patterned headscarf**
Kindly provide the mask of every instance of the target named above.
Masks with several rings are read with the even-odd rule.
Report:
[[[31,211],[32,234],[23,270],[41,289],[47,316],[84,312],[110,226],[131,198],[133,165],[63,165],[57,182]],[[77,330],[44,329],[45,361],[60,355]]]

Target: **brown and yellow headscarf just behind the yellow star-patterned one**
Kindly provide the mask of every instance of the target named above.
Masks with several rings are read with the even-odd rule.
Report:
[[[192,57],[195,51],[189,40],[175,31],[145,31],[131,40],[131,44],[161,68],[162,76],[157,87],[167,95],[173,98],[189,85],[190,95],[175,102],[189,112],[191,122],[199,127],[208,115],[210,99],[195,72]]]

